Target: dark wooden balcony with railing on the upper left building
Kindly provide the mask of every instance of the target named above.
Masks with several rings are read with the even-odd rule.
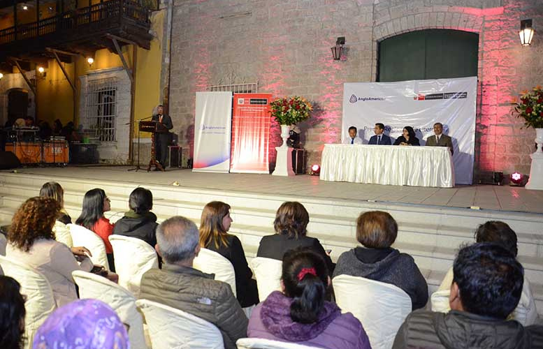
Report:
[[[150,48],[150,10],[130,0],[110,0],[55,17],[0,30],[0,61],[47,56],[47,47],[87,54],[115,50],[108,34]]]

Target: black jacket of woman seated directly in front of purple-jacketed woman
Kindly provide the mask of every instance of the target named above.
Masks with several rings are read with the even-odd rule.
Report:
[[[319,239],[315,237],[302,236],[296,239],[284,234],[268,235],[260,240],[259,251],[256,252],[256,257],[283,260],[285,252],[297,247],[310,247],[313,251],[321,255],[326,262],[329,274],[332,275],[335,265],[330,256],[324,251]]]

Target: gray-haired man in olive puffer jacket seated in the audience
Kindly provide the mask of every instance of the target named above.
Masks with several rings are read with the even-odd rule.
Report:
[[[211,322],[219,328],[224,348],[235,349],[236,341],[247,336],[247,317],[228,283],[192,267],[200,252],[196,224],[182,216],[168,218],[157,228],[155,248],[164,264],[143,274],[140,298]]]

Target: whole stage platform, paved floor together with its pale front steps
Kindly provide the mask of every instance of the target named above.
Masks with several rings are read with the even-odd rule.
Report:
[[[256,254],[262,236],[273,234],[277,207],[297,200],[310,212],[308,235],[331,248],[333,260],[356,246],[356,217],[363,211],[389,211],[398,221],[394,247],[413,255],[433,292],[451,267],[458,246],[473,242],[477,225],[505,221],[519,237],[519,260],[526,269],[543,313],[543,191],[509,186],[421,188],[320,181],[319,177],[269,174],[218,174],[167,170],[127,171],[126,166],[69,166],[24,168],[0,172],[0,223],[8,223],[15,209],[38,195],[46,181],[65,190],[65,207],[73,220],[82,197],[103,188],[112,200],[106,214],[112,221],[128,209],[129,193],[150,188],[159,221],[182,215],[199,224],[201,209],[212,200],[231,205],[231,232],[240,237],[247,258]],[[177,182],[177,183],[176,183]],[[179,185],[175,185],[179,184]],[[472,208],[471,208],[472,207]],[[475,209],[478,207],[479,209]]]

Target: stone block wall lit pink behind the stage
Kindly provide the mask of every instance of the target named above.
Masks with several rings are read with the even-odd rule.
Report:
[[[305,96],[316,106],[301,124],[318,163],[323,144],[341,136],[344,82],[375,81],[379,40],[421,29],[479,34],[475,179],[493,170],[528,172],[535,131],[521,129],[509,105],[543,83],[543,45],[521,47],[520,20],[543,25],[538,0],[184,0],[173,8],[170,114],[191,153],[195,92],[258,80],[260,92]],[[330,47],[345,36],[341,61]],[[270,158],[280,144],[273,123]]]

